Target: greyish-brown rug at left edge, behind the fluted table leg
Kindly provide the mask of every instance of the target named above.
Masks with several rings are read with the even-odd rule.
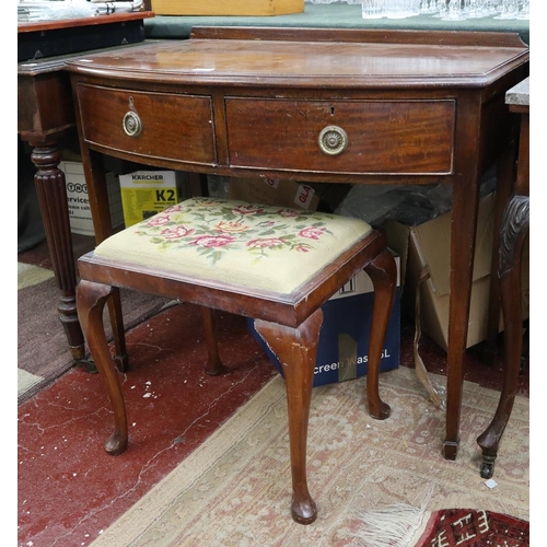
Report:
[[[18,404],[74,365],[56,310],[58,301],[51,270],[18,263]],[[123,293],[126,330],[160,312],[167,302],[130,291]]]

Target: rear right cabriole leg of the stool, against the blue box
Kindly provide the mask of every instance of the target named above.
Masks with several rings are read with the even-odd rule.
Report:
[[[386,249],[374,258],[364,268],[364,271],[370,276],[374,286],[374,307],[372,312],[374,328],[371,329],[369,341],[366,397],[370,415],[379,420],[384,420],[389,417],[391,408],[380,398],[380,362],[397,283],[397,266],[392,254]]]

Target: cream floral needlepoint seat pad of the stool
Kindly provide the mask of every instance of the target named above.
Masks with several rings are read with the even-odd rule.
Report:
[[[95,255],[288,294],[370,231],[349,217],[191,198],[108,237]]]

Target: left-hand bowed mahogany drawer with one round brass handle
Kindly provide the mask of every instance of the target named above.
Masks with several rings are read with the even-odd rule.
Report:
[[[211,97],[88,84],[77,90],[86,142],[146,158],[216,163]]]

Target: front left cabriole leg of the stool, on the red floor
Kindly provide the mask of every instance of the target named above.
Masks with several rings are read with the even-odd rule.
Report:
[[[78,286],[78,314],[85,339],[93,348],[93,358],[103,380],[114,410],[114,432],[105,443],[108,454],[121,454],[128,444],[127,416],[117,371],[106,342],[103,310],[110,299],[113,288],[102,283],[82,280]]]

